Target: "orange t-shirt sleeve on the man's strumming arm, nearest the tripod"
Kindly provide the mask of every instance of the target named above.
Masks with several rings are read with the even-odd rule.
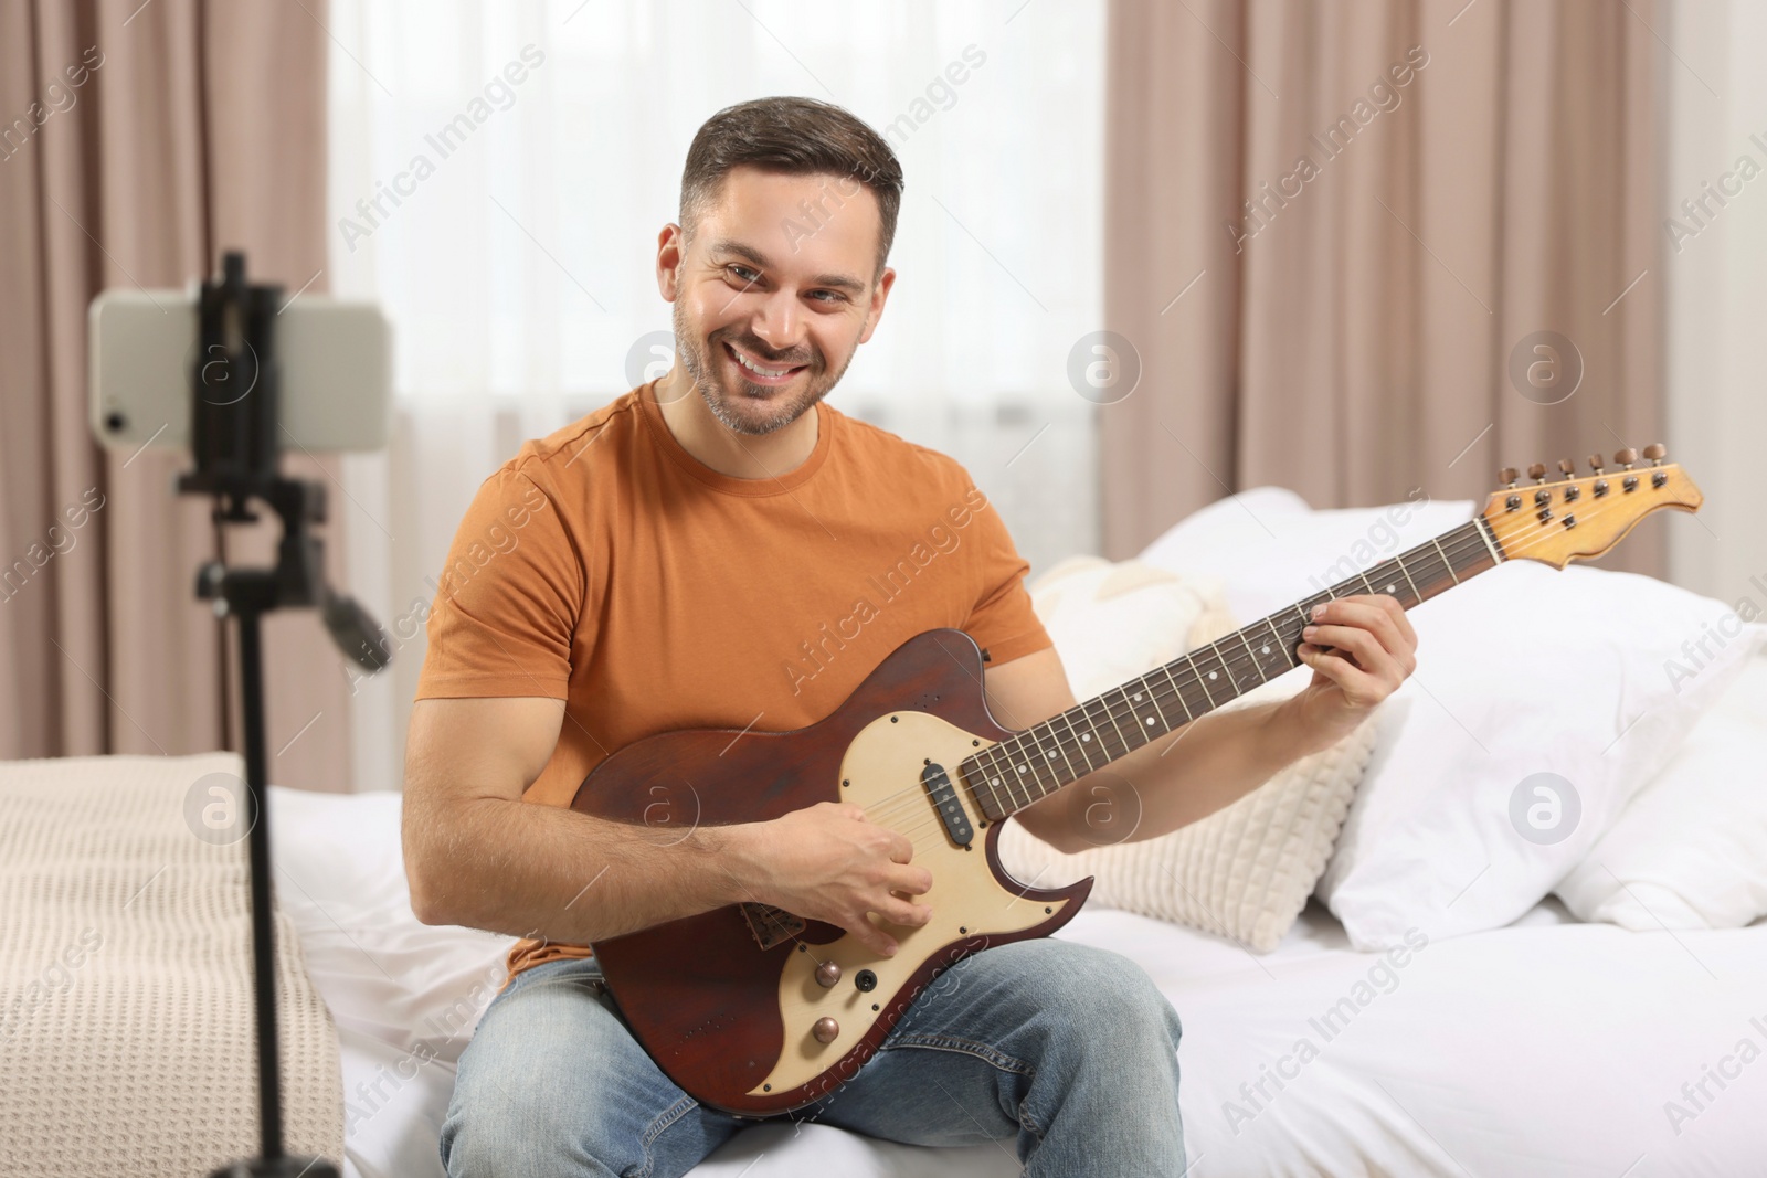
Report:
[[[519,470],[479,486],[429,611],[417,699],[569,698],[585,569],[558,505]]]

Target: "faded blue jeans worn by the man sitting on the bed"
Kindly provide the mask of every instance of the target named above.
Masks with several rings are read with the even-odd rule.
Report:
[[[1032,1178],[1186,1171],[1179,1016],[1122,954],[1039,938],[933,980],[846,1084],[792,1118],[926,1146],[1016,1143]],[[701,1107],[618,1016],[588,961],[491,1001],[442,1123],[452,1178],[679,1178],[753,1118]]]

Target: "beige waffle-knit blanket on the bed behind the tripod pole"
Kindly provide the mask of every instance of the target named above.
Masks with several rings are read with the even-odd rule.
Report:
[[[0,1174],[258,1152],[247,841],[217,775],[240,758],[0,761]],[[341,1173],[337,1035],[281,910],[276,954],[284,1150]]]

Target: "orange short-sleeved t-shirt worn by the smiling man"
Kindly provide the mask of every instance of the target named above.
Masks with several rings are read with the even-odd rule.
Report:
[[[816,447],[776,479],[693,457],[654,383],[525,443],[454,535],[417,699],[564,699],[523,797],[569,805],[654,733],[815,724],[924,631],[967,631],[990,666],[1050,646],[1030,565],[963,466],[816,415]],[[509,971],[587,955],[523,940]]]

